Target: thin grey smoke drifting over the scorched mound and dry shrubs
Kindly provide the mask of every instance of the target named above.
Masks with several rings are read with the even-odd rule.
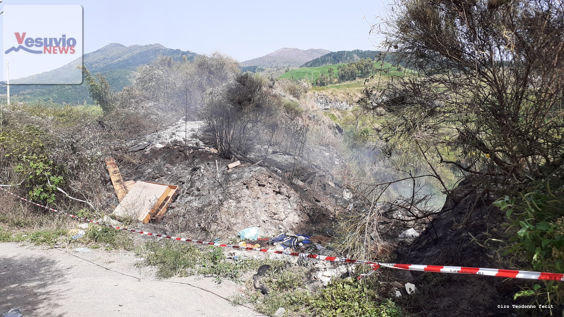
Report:
[[[307,87],[296,85],[278,87],[259,74],[241,74],[235,60],[214,52],[193,61],[160,58],[145,65],[118,100],[132,106],[147,100],[177,118],[203,120],[203,140],[225,158],[244,155],[292,178],[303,169],[318,170],[371,204],[417,200],[426,211],[442,206],[436,180],[419,177],[426,172],[422,162],[404,162],[402,153],[386,151],[381,143],[351,142],[329,117],[299,99]],[[288,96],[289,89],[294,96]]]

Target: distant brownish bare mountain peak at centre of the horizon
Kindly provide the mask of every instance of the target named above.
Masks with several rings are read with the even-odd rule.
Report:
[[[300,50],[296,47],[283,47],[259,58],[245,60],[241,66],[261,67],[298,67],[312,59],[323,56],[331,51],[324,49]]]

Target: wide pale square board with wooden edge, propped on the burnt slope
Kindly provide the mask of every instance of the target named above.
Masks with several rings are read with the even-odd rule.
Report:
[[[138,181],[114,210],[118,217],[130,217],[143,223],[149,222],[153,215],[170,195],[171,188],[164,184]],[[166,208],[166,204],[165,204]]]

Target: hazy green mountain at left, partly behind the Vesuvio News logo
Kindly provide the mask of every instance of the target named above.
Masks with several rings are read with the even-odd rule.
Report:
[[[85,54],[83,62],[92,74],[104,75],[112,89],[120,91],[125,86],[131,85],[131,78],[139,65],[150,64],[159,56],[172,56],[174,60],[182,60],[183,56],[186,56],[188,60],[192,60],[196,55],[191,51],[168,49],[161,44],[125,46],[120,43],[111,43]],[[60,77],[65,70],[75,68],[78,64],[80,64],[80,59],[52,71],[32,76]],[[6,85],[1,85],[0,94],[6,94]],[[84,82],[80,85],[11,85],[10,94],[23,96],[24,100],[29,101],[52,99],[56,103],[83,103],[86,100],[87,103],[94,103],[88,95]]]

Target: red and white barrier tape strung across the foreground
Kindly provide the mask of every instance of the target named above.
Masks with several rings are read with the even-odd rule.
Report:
[[[41,204],[37,204],[37,202],[30,201],[25,199],[24,197],[17,196],[15,193],[5,190],[4,188],[0,187],[0,190],[3,190],[10,195],[17,197],[23,201],[27,201],[30,204],[34,204],[36,206],[45,208],[47,210],[51,210],[52,212],[58,212],[64,215],[68,215],[69,217],[73,217],[76,219],[81,219],[83,221],[92,222],[96,224],[100,224],[101,226],[111,227],[118,230],[125,230],[130,232],[135,232],[137,234],[143,234],[148,236],[157,236],[171,240],[178,240],[178,241],[185,241],[185,242],[192,242],[192,243],[199,243],[199,244],[208,244],[213,246],[222,246],[224,248],[233,248],[233,249],[243,249],[243,250],[252,250],[264,253],[275,253],[275,254],[285,254],[287,256],[294,256],[294,257],[303,257],[303,258],[312,258],[312,259],[319,259],[323,261],[333,261],[333,262],[343,262],[343,263],[358,263],[358,264],[365,264],[372,267],[373,271],[368,274],[361,274],[359,279],[362,276],[371,275],[374,271],[378,270],[380,266],[389,267],[389,268],[398,268],[400,270],[411,270],[411,271],[426,271],[426,272],[442,272],[442,273],[459,273],[459,274],[475,274],[475,275],[487,275],[487,276],[500,276],[503,278],[518,278],[518,279],[534,279],[534,280],[555,280],[555,281],[564,281],[564,274],[560,273],[547,273],[547,272],[532,272],[532,271],[518,271],[518,270],[503,270],[498,268],[482,268],[482,267],[461,267],[461,266],[436,266],[436,265],[415,265],[415,264],[395,264],[395,263],[377,263],[371,261],[363,261],[357,259],[348,259],[348,258],[340,258],[340,257],[329,257],[329,256],[320,256],[318,254],[309,254],[309,253],[298,253],[298,252],[289,252],[289,251],[278,251],[278,250],[270,250],[270,249],[261,249],[261,248],[250,248],[249,246],[239,246],[239,245],[231,245],[231,244],[220,244],[208,241],[198,241],[183,237],[175,237],[175,236],[168,236],[168,235],[160,235],[160,234],[153,234],[152,232],[146,231],[138,231],[133,229],[128,229],[120,226],[112,226],[111,224],[106,224],[98,221],[93,221],[90,219],[78,217],[77,215],[68,214],[61,212],[56,209],[49,208],[47,206],[43,206]]]

